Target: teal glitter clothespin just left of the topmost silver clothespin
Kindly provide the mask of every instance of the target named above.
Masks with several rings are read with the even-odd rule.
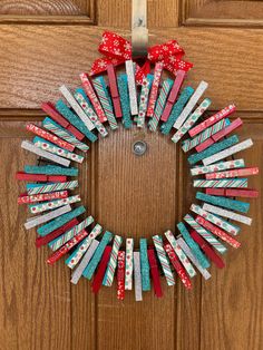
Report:
[[[119,75],[117,77],[120,106],[123,110],[123,124],[126,129],[133,126],[133,120],[130,118],[130,107],[129,107],[129,94],[128,94],[128,78],[126,74]]]

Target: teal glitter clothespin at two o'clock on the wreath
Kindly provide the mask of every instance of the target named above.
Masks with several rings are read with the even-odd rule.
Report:
[[[238,143],[238,137],[236,135],[233,135],[228,138],[225,138],[223,139],[222,142],[220,143],[215,143],[214,145],[212,145],[211,147],[206,148],[205,150],[203,152],[199,152],[199,153],[195,153],[195,154],[192,154],[187,159],[188,159],[188,163],[191,165],[206,158],[206,157],[210,157],[225,148],[228,148],[235,144]]]

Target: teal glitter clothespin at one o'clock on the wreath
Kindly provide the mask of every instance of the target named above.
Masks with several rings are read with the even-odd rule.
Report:
[[[169,115],[169,118],[166,123],[164,123],[160,127],[160,130],[164,135],[168,135],[172,130],[176,119],[181,115],[182,110],[184,109],[184,106],[187,104],[192,95],[194,94],[194,89],[191,86],[187,86],[182,94],[179,95],[179,98],[177,99],[176,104],[174,105],[172,113]]]

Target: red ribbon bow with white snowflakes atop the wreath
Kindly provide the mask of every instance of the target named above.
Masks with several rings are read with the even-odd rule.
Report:
[[[118,66],[125,60],[132,59],[132,45],[128,40],[111,31],[105,31],[98,51],[106,57],[94,61],[90,76],[100,74],[107,69],[107,65]],[[162,45],[148,48],[146,62],[143,67],[137,66],[136,80],[142,82],[143,78],[150,71],[150,62],[163,62],[164,68],[176,75],[178,69],[188,71],[193,65],[183,61],[184,50],[176,40],[169,40]]]

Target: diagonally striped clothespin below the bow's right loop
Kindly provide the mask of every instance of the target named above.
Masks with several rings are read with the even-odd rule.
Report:
[[[171,80],[171,79],[166,79],[163,84],[163,87],[162,87],[160,93],[159,93],[159,97],[156,101],[153,118],[148,123],[150,132],[156,132],[156,129],[157,129],[162,113],[163,113],[164,107],[165,107],[167,96],[169,94],[169,90],[172,89],[172,86],[173,86],[173,80]]]

